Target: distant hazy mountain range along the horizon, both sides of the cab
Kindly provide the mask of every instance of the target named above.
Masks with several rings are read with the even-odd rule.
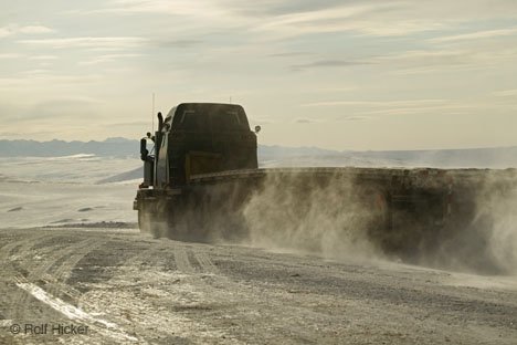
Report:
[[[126,138],[104,142],[0,140],[0,157],[57,157],[78,154],[138,159],[139,143]],[[429,166],[517,167],[517,146],[469,149],[338,151],[318,147],[258,146],[261,166]]]

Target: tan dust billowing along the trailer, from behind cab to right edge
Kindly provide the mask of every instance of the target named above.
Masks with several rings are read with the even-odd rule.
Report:
[[[393,209],[387,219],[381,186],[337,175],[271,175],[242,209],[247,243],[347,262],[394,260],[517,274],[517,176],[511,170],[478,170],[474,176],[467,181],[457,177],[461,187],[452,215],[435,224],[440,218],[430,221],[425,215],[431,207],[418,215]]]

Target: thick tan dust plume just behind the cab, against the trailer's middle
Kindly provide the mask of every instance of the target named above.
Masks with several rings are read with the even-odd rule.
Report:
[[[347,261],[377,260],[369,240],[379,212],[351,178],[270,175],[243,208],[249,243]],[[370,202],[372,201],[372,202]]]

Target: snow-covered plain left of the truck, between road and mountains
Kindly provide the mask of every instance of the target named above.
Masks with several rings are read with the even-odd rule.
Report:
[[[116,177],[139,166],[138,159],[94,155],[0,158],[2,228],[136,222],[139,179]],[[99,182],[105,179],[110,182]]]

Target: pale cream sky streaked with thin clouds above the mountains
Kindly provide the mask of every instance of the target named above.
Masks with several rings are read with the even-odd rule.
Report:
[[[238,103],[258,143],[517,145],[515,0],[0,0],[0,139],[140,138]]]

